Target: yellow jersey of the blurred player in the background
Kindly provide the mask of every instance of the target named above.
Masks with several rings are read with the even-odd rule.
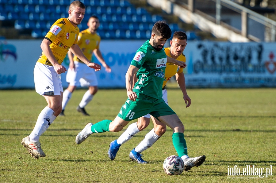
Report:
[[[84,56],[91,61],[94,49],[99,49],[101,37],[98,34],[92,34],[89,29],[79,33],[78,45]],[[74,56],[74,61],[82,62],[78,57]]]

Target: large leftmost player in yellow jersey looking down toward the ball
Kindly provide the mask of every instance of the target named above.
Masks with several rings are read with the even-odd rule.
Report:
[[[34,158],[45,157],[41,149],[39,137],[43,134],[56,116],[62,110],[63,88],[60,74],[66,71],[61,63],[70,49],[88,67],[95,71],[101,66],[90,62],[76,44],[79,35],[79,25],[85,14],[85,5],[80,1],[73,1],[68,10],[68,18],[58,19],[51,27],[41,43],[42,54],[34,68],[36,92],[46,99],[48,105],[40,112],[32,133],[23,138],[21,144],[27,148]]]

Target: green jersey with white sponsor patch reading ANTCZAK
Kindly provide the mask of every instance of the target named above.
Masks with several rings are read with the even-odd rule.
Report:
[[[131,65],[139,68],[136,74],[138,81],[135,83],[133,91],[161,99],[166,63],[167,55],[164,48],[156,51],[149,40],[146,41],[137,50],[131,61]]]

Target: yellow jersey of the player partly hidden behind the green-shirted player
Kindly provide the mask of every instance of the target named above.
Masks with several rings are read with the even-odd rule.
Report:
[[[169,48],[165,48],[165,53],[168,57],[171,57],[171,50],[170,47]],[[185,55],[182,53],[179,57],[177,57],[176,60],[182,61],[182,62],[186,62],[186,57]],[[168,63],[166,64],[166,70],[165,70],[165,78],[163,81],[163,86],[162,88],[165,89],[165,86],[167,84],[167,81],[169,81],[171,79],[171,77],[173,77],[176,73],[181,73],[183,72],[183,68],[179,68],[177,65],[174,65],[172,63]]]

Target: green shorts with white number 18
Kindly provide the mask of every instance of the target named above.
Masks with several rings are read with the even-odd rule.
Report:
[[[146,114],[150,114],[157,119],[159,116],[175,114],[163,98],[156,99],[141,93],[136,94],[136,101],[131,101],[128,98],[118,114],[125,121],[138,119]]]

